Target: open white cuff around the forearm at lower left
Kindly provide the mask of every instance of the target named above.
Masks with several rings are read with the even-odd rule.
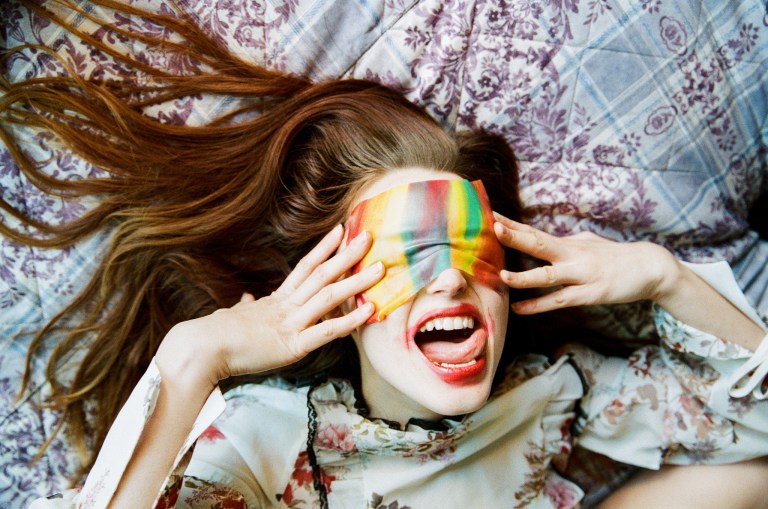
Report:
[[[29,509],[106,508],[125,473],[144,426],[154,412],[160,394],[160,384],[160,371],[153,359],[112,423],[83,489],[79,493],[76,490],[67,490],[53,497],[35,500]],[[224,398],[216,388],[197,416],[192,431],[173,462],[169,476],[197,437],[224,411],[224,407]],[[163,482],[163,486],[165,485],[166,482]]]

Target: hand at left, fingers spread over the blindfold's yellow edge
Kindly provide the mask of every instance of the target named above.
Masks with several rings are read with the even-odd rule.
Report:
[[[163,377],[179,375],[213,389],[234,375],[260,373],[298,361],[364,324],[371,304],[348,314],[334,310],[376,284],[384,275],[377,263],[343,277],[371,246],[370,234],[357,236],[344,249],[341,225],[299,261],[271,295],[246,294],[235,306],[176,325],[158,349],[155,362]],[[323,320],[324,317],[328,317]],[[202,379],[202,380],[201,380]]]

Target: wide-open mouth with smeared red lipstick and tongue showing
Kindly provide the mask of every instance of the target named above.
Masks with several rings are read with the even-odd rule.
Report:
[[[425,316],[413,341],[430,366],[443,378],[466,378],[482,371],[488,334],[472,314],[443,310]]]

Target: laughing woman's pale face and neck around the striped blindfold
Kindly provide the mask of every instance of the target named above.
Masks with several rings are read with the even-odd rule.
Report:
[[[360,200],[411,182],[459,178],[399,170],[364,188]],[[405,423],[480,408],[490,394],[508,315],[506,289],[447,268],[384,320],[360,327],[353,336],[372,416]]]

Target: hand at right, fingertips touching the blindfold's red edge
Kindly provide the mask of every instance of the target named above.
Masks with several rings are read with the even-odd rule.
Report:
[[[542,296],[516,302],[519,314],[638,300],[658,301],[679,275],[680,264],[650,242],[621,243],[583,232],[555,237],[496,214],[494,231],[512,249],[549,262],[523,272],[501,271],[510,288],[551,288]]]

